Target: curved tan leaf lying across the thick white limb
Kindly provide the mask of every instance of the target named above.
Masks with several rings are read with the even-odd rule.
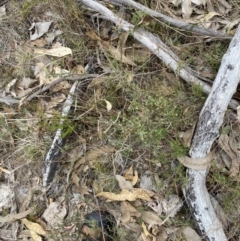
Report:
[[[185,167],[192,168],[194,170],[205,170],[214,158],[214,153],[210,152],[206,157],[203,158],[191,158],[188,156],[177,157]]]

